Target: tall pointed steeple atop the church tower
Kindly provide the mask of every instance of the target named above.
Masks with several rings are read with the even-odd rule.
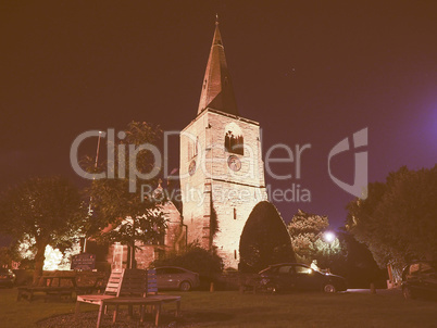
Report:
[[[207,108],[238,115],[237,102],[235,101],[234,88],[218,29],[218,17],[215,21],[215,33],[204,73],[198,115]]]

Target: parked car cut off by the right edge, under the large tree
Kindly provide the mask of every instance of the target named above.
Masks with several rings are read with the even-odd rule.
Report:
[[[405,299],[437,297],[437,263],[416,261],[402,272],[402,293]]]

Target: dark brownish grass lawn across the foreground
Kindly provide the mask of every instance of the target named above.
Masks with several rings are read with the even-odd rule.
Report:
[[[436,302],[405,301],[398,293],[172,294],[183,297],[183,323],[192,327],[437,327]],[[16,302],[15,298],[16,289],[0,290],[0,327],[36,327],[36,321],[73,313],[75,306],[74,302],[28,303]],[[96,310],[88,304],[82,306],[82,312]],[[165,310],[173,306],[168,304]],[[88,320],[82,327],[95,325],[96,320]]]

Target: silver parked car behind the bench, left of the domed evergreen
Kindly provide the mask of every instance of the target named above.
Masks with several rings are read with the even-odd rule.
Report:
[[[157,267],[158,289],[188,291],[199,287],[199,274],[177,266]]]

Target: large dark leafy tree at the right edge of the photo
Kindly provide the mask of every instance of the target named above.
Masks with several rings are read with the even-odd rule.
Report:
[[[347,229],[367,244],[380,267],[437,258],[437,165],[390,173],[369,186],[369,198],[347,206]]]

